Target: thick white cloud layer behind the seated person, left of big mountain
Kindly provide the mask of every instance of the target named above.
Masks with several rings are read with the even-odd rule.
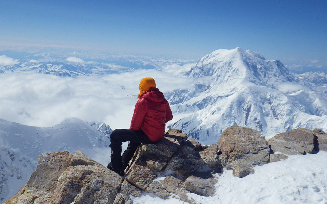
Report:
[[[0,74],[0,118],[24,125],[51,127],[68,117],[104,121],[128,129],[139,82],[153,77],[163,92],[190,86],[185,77],[156,70],[136,70],[102,77],[59,77],[14,72]],[[169,83],[167,83],[169,82]]]

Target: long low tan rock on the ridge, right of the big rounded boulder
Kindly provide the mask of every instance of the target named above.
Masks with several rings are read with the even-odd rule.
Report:
[[[318,151],[318,137],[316,133],[305,129],[294,129],[280,133],[268,140],[272,151],[288,155],[314,153]]]

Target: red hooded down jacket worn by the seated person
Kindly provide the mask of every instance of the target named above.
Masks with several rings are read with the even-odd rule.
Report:
[[[129,129],[141,129],[151,141],[158,141],[163,137],[165,123],[173,119],[169,103],[158,88],[150,88],[140,98],[135,104]]]

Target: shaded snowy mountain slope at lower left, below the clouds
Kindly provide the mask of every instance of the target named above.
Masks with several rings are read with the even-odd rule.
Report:
[[[0,202],[25,185],[42,153],[77,149],[99,161],[108,155],[112,130],[105,123],[68,118],[53,127],[31,127],[0,119]],[[102,161],[103,163],[108,161]]]

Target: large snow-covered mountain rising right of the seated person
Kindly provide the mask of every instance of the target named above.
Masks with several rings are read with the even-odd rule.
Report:
[[[327,129],[327,95],[260,53],[216,50],[185,76],[198,83],[165,95],[179,117],[169,127],[201,142],[218,141],[232,125],[259,130],[267,138],[301,127]]]

